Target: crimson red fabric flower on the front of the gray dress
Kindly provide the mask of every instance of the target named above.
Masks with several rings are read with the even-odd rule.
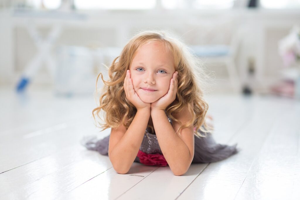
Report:
[[[140,163],[144,165],[152,165],[152,166],[156,165],[160,167],[164,167],[168,165],[165,157],[159,153],[147,154],[139,150],[139,152],[137,153],[137,157],[140,158]]]

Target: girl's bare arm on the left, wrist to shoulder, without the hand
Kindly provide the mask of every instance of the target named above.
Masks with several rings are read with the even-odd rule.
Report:
[[[119,174],[126,174],[139,152],[150,118],[150,108],[138,109],[131,125],[111,129],[108,156]]]

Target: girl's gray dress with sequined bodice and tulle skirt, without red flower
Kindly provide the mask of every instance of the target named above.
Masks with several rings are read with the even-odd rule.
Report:
[[[171,118],[168,117],[169,122],[172,124]],[[201,135],[205,135],[200,129],[197,130]],[[238,153],[236,148],[237,144],[232,146],[226,144],[217,144],[210,133],[207,133],[207,137],[195,138],[195,150],[194,158],[192,163],[209,163],[217,162],[228,158],[229,156]],[[89,150],[98,151],[101,155],[108,155],[108,143],[110,135],[98,140],[96,136],[84,137],[81,140],[81,144]],[[152,133],[151,129],[148,127],[145,131],[145,135],[140,146],[140,150],[147,154],[163,154],[161,148],[158,144],[156,135]],[[136,157],[134,162],[140,162],[139,157]]]

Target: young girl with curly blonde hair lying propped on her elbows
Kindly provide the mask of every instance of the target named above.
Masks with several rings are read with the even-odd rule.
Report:
[[[141,32],[132,38],[109,68],[99,107],[104,113],[104,139],[83,141],[90,150],[108,155],[117,173],[133,162],[169,165],[174,175],[191,163],[208,163],[238,152],[236,145],[216,144],[205,115],[208,104],[197,74],[204,74],[179,40],[165,32]],[[199,73],[200,71],[200,73]],[[201,83],[201,84],[199,84]],[[96,86],[97,90],[97,86]],[[101,118],[101,117],[100,117]],[[145,131],[146,130],[146,131]]]

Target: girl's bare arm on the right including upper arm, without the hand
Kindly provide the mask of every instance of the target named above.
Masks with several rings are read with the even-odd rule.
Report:
[[[181,130],[181,135],[175,134],[179,124],[174,122],[174,129],[170,124],[164,110],[152,109],[151,117],[161,151],[174,175],[181,176],[186,173],[194,157],[193,126]],[[187,107],[176,114],[182,124],[192,119]]]

